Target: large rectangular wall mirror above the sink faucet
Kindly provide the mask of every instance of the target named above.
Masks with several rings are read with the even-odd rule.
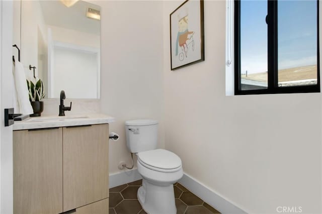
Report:
[[[21,1],[21,62],[45,98],[100,98],[100,7],[84,1]]]

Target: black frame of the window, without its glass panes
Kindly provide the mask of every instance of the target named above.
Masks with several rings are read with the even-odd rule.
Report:
[[[319,69],[319,10],[317,4],[317,84],[301,86],[278,86],[278,43],[277,43],[277,4],[278,1],[268,0],[268,87],[265,89],[241,90],[240,72],[240,1],[234,0],[234,91],[235,95],[246,94],[275,94],[275,93],[310,93],[320,92],[320,69]]]

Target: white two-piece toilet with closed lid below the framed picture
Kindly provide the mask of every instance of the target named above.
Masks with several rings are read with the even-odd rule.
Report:
[[[136,153],[143,178],[137,198],[149,214],[177,213],[173,184],[183,176],[182,162],[175,153],[156,149],[157,126],[154,120],[125,122],[126,146]]]

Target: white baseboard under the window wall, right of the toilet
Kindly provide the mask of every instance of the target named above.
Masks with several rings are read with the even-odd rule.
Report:
[[[247,213],[186,173],[178,182],[221,213]]]

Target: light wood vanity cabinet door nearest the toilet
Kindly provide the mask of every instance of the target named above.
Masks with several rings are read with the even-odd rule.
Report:
[[[108,124],[63,128],[63,211],[109,197]]]

